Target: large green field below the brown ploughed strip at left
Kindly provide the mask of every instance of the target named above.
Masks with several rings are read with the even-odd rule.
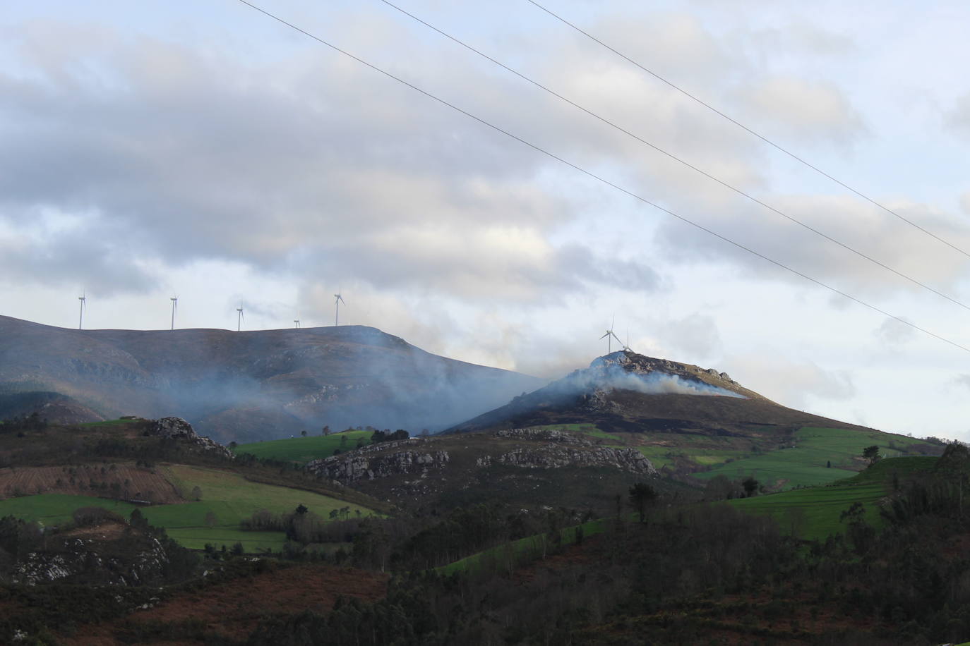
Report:
[[[268,509],[286,513],[305,505],[317,515],[328,518],[334,509],[349,508],[354,515],[370,515],[372,510],[351,505],[336,498],[309,491],[250,482],[232,472],[171,465],[158,467],[185,493],[199,487],[202,500],[178,505],[139,507],[147,521],[164,527],[169,536],[185,547],[201,549],[207,542],[232,546],[242,542],[247,552],[265,548],[280,549],[285,536],[280,532],[246,532],[240,528],[243,519],[256,511]],[[135,505],[90,496],[41,494],[0,501],[0,516],[13,515],[37,520],[45,525],[60,525],[71,520],[71,513],[81,507],[102,507],[128,517]],[[213,514],[211,518],[209,514]],[[211,522],[211,526],[210,526]]]

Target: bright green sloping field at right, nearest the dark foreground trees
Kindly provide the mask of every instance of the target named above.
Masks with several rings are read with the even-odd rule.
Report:
[[[835,484],[732,500],[729,504],[749,513],[770,515],[785,533],[824,540],[845,530],[839,516],[853,503],[865,506],[866,522],[881,527],[878,503],[886,497],[893,474],[904,478],[925,472],[932,469],[936,459],[889,458]]]

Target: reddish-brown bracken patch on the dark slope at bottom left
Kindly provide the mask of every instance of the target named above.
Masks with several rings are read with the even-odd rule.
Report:
[[[165,600],[147,610],[136,610],[112,622],[81,626],[60,637],[64,646],[115,646],[122,625],[203,621],[207,631],[244,640],[266,614],[297,614],[304,610],[327,612],[339,596],[373,601],[387,594],[389,576],[363,569],[327,565],[297,566],[217,583],[203,590]],[[162,642],[153,642],[162,643]],[[194,646],[196,640],[165,641],[169,646]]]

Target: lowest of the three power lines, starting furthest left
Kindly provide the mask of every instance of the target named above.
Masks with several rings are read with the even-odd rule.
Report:
[[[667,215],[670,215],[670,216],[672,216],[674,218],[677,218],[678,220],[680,220],[681,222],[683,222],[685,224],[691,225],[695,229],[698,229],[700,231],[704,231],[706,233],[709,233],[709,234],[713,235],[714,237],[716,237],[716,238],[718,238],[720,240],[723,240],[724,242],[727,242],[730,245],[733,245],[733,246],[737,247],[738,249],[741,249],[743,251],[746,251],[746,252],[748,252],[749,254],[751,254],[753,256],[757,256],[758,258],[760,258],[763,261],[768,261],[771,264],[774,264],[775,266],[778,266],[778,267],[780,267],[782,269],[785,269],[786,271],[791,272],[795,276],[799,276],[800,278],[803,278],[803,279],[805,279],[805,280],[807,280],[807,281],[809,281],[811,283],[814,283],[815,285],[818,285],[819,287],[823,287],[824,289],[828,290],[829,292],[837,293],[840,296],[843,296],[845,298],[848,298],[849,300],[851,300],[853,302],[856,302],[859,305],[862,305],[863,307],[866,307],[866,308],[868,308],[868,309],[870,309],[870,310],[872,310],[874,312],[877,312],[879,314],[882,314],[883,316],[888,317],[889,319],[893,319],[895,321],[898,321],[899,323],[903,323],[905,325],[908,325],[908,326],[912,327],[913,329],[916,329],[917,331],[922,332],[923,334],[926,334],[928,336],[933,337],[934,339],[937,339],[939,341],[943,341],[944,343],[950,344],[951,346],[954,346],[954,348],[958,348],[959,350],[962,350],[962,351],[964,351],[966,353],[970,353],[970,348],[967,348],[966,346],[962,346],[959,343],[956,343],[955,341],[951,341],[950,339],[947,339],[946,337],[940,336],[939,334],[936,334],[935,332],[931,332],[931,331],[929,331],[929,330],[927,330],[927,329],[925,329],[925,328],[917,325],[916,323],[910,323],[909,321],[907,321],[907,320],[905,320],[905,319],[903,319],[901,317],[897,317],[895,315],[889,314],[889,312],[887,312],[887,311],[885,311],[885,310],[883,310],[883,309],[881,309],[881,308],[879,308],[879,307],[877,307],[875,305],[872,305],[870,303],[867,303],[866,301],[861,300],[860,298],[857,298],[856,296],[853,296],[853,295],[848,294],[846,292],[842,292],[841,290],[838,290],[837,288],[834,288],[834,287],[832,287],[832,286],[830,286],[830,285],[828,285],[826,283],[823,283],[822,281],[820,281],[818,279],[812,278],[811,276],[809,276],[807,274],[804,274],[804,273],[798,271],[797,269],[793,269],[792,267],[788,266],[787,264],[785,264],[785,263],[783,263],[781,261],[776,261],[774,259],[768,258],[767,256],[761,254],[760,252],[755,251],[754,249],[751,249],[750,247],[747,247],[747,246],[741,244],[740,242],[735,242],[734,240],[731,240],[727,236],[722,235],[721,233],[718,233],[717,231],[712,231],[710,229],[707,229],[703,225],[699,225],[699,224],[695,223],[693,220],[690,220],[690,219],[688,219],[688,218],[686,218],[686,217],[684,217],[682,215],[679,215],[679,214],[675,213],[674,211],[671,211],[670,209],[665,208],[665,207],[661,206],[660,204],[658,204],[656,202],[653,202],[651,200],[647,200],[646,198],[643,198],[642,196],[639,196],[639,195],[633,193],[632,191],[623,188],[622,186],[620,186],[618,184],[614,184],[610,180],[608,180],[608,179],[606,179],[604,177],[601,177],[600,175],[596,174],[595,172],[593,172],[591,170],[587,170],[587,169],[584,169],[584,168],[582,168],[580,166],[577,166],[577,165],[573,164],[572,162],[569,162],[566,159],[564,159],[564,158],[556,155],[555,153],[549,152],[545,148],[542,148],[542,147],[540,147],[540,146],[532,143],[531,141],[528,141],[528,140],[526,140],[524,138],[518,137],[517,135],[513,135],[512,133],[508,132],[507,130],[503,130],[501,127],[496,126],[495,124],[490,123],[489,121],[486,121],[482,117],[476,116],[475,114],[472,114],[471,112],[469,112],[466,109],[459,108],[458,106],[455,106],[454,104],[448,103],[444,99],[441,99],[441,98],[437,97],[436,95],[432,94],[431,92],[429,92],[427,90],[424,90],[424,89],[418,87],[417,85],[414,85],[413,83],[411,83],[409,81],[404,80],[404,78],[397,77],[397,76],[391,74],[390,72],[387,72],[386,70],[384,70],[382,68],[379,68],[376,65],[373,65],[372,63],[369,63],[368,61],[364,60],[363,58],[360,58],[358,56],[355,56],[354,54],[350,53],[349,51],[346,51],[345,49],[341,49],[339,46],[333,45],[332,43],[329,43],[329,42],[323,40],[319,36],[315,36],[314,34],[311,34],[307,30],[305,30],[305,29],[303,29],[301,27],[298,27],[297,25],[293,24],[292,22],[287,22],[286,20],[284,20],[283,18],[279,17],[278,15],[271,14],[270,12],[266,11],[265,9],[262,9],[260,7],[257,7],[256,5],[248,2],[248,0],[239,0],[239,2],[241,2],[243,5],[246,5],[247,7],[251,8],[251,9],[254,9],[255,11],[259,12],[260,14],[267,15],[268,17],[273,18],[277,22],[279,22],[279,23],[281,23],[283,25],[286,25],[287,27],[289,27],[289,28],[291,28],[291,29],[293,29],[295,31],[300,32],[304,36],[307,36],[307,38],[310,38],[310,39],[316,41],[320,45],[328,46],[331,49],[333,49],[334,51],[337,51],[337,52],[343,54],[344,56],[347,56],[348,58],[352,58],[353,60],[357,61],[361,65],[365,65],[365,66],[371,68],[374,72],[377,72],[379,74],[382,74],[385,77],[391,78],[393,80],[396,80],[399,83],[401,83],[402,85],[406,85],[407,87],[411,88],[415,92],[418,92],[420,94],[423,94],[424,96],[428,97],[429,99],[432,99],[433,101],[436,101],[437,103],[441,104],[442,106],[445,106],[447,108],[451,108],[451,109],[455,110],[456,112],[460,112],[461,114],[464,114],[465,116],[469,117],[470,119],[474,119],[478,123],[480,123],[480,124],[482,124],[484,126],[487,126],[488,128],[491,128],[492,130],[494,130],[494,131],[496,131],[498,133],[501,133],[505,137],[515,139],[516,141],[518,141],[518,142],[520,142],[520,143],[522,143],[522,144],[524,144],[524,145],[532,148],[536,152],[540,152],[543,155],[546,155],[547,157],[550,157],[550,158],[556,160],[557,162],[559,162],[559,163],[561,163],[561,164],[569,167],[570,169],[578,170],[579,172],[581,172],[581,173],[583,173],[583,174],[585,174],[585,175],[587,175],[589,177],[592,177],[593,179],[596,179],[598,182],[600,182],[602,184],[605,184],[606,186],[609,186],[609,187],[611,187],[613,189],[616,189],[617,191],[620,191],[621,193],[629,196],[630,198],[633,198],[634,200],[638,200],[638,201],[643,202],[644,204],[648,204],[649,206],[653,206],[654,208],[656,208],[656,209],[658,209],[660,211],[663,211]]]

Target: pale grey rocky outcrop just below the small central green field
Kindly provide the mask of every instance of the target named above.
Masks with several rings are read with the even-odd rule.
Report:
[[[405,440],[366,446],[353,453],[313,460],[307,464],[307,470],[339,482],[353,482],[398,475],[425,477],[430,470],[440,470],[448,464],[448,451],[393,450],[413,442]],[[392,452],[374,454],[388,448]]]

